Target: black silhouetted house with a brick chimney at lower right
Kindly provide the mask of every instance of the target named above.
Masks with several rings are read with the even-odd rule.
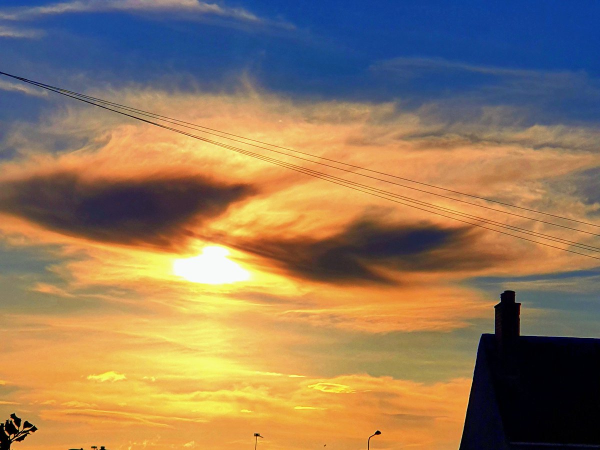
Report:
[[[494,308],[460,450],[600,449],[600,339],[521,336],[512,290]]]

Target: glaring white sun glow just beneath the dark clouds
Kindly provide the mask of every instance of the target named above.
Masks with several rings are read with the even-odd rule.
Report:
[[[223,247],[205,247],[202,254],[173,262],[173,273],[193,283],[226,284],[245,281],[250,272],[233,262]]]

